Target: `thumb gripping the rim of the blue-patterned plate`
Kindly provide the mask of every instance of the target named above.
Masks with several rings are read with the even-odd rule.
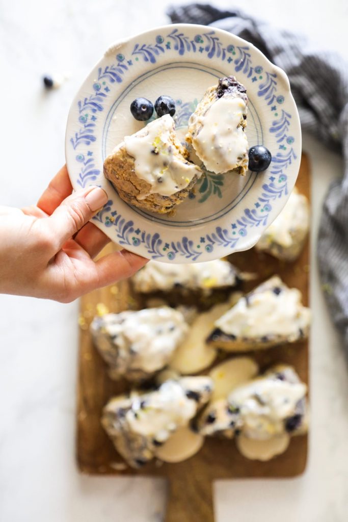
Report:
[[[88,187],[67,197],[47,219],[51,234],[54,233],[59,248],[78,232],[107,201],[106,192],[100,187]]]

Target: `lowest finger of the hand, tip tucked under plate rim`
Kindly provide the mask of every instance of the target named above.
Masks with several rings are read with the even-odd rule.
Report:
[[[92,290],[133,276],[139,268],[146,265],[148,260],[127,250],[113,252],[102,257],[95,263],[98,280],[94,282]]]

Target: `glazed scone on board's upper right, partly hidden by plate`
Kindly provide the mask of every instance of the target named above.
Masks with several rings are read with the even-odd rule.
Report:
[[[256,250],[284,261],[293,261],[301,254],[308,230],[308,199],[295,187],[279,216],[261,235]]]

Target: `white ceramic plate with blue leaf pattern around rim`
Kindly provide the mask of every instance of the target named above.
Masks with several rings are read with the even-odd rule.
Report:
[[[249,98],[249,146],[272,153],[267,171],[205,171],[174,216],[125,203],[103,176],[103,162],[125,135],[138,131],[129,111],[139,96],[176,101],[176,128],[184,136],[203,92],[235,75]],[[102,186],[109,201],[93,218],[127,250],[164,263],[195,263],[247,250],[284,207],[301,159],[301,129],[289,80],[253,45],[205,26],[177,24],[140,34],[110,48],[77,93],[68,116],[66,161],[75,189]]]

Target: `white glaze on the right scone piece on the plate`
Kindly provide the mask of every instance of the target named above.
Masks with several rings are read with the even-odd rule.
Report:
[[[248,140],[240,125],[246,112],[244,100],[223,96],[213,102],[204,115],[197,117],[202,127],[193,136],[192,143],[209,171],[218,174],[233,170],[247,154]]]

